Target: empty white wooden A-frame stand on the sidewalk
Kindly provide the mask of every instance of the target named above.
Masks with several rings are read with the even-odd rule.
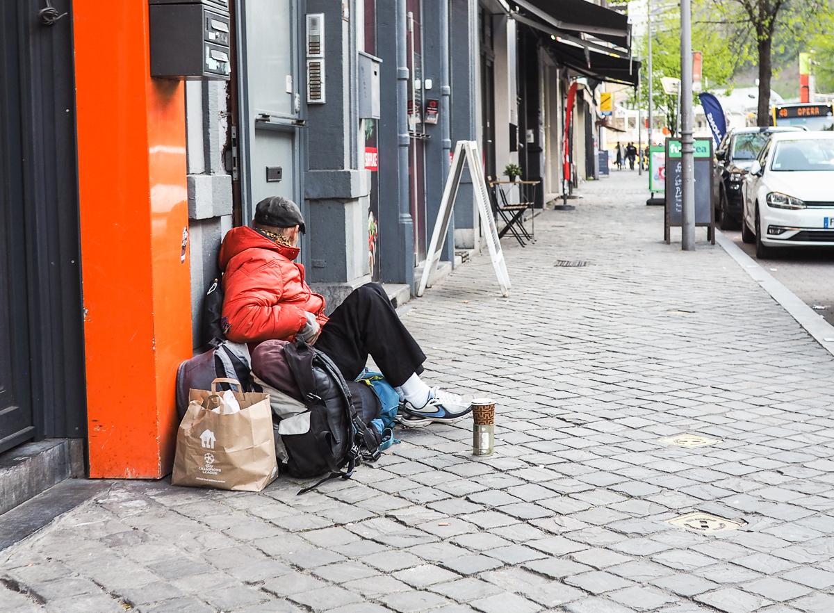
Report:
[[[458,195],[460,178],[464,173],[464,160],[469,164],[472,186],[475,188],[475,201],[478,203],[480,227],[486,239],[486,246],[490,249],[492,267],[495,269],[495,276],[501,286],[501,294],[507,298],[510,295],[510,274],[507,273],[507,265],[504,262],[504,254],[501,252],[501,243],[498,238],[498,229],[495,228],[495,217],[493,217],[490,208],[490,194],[487,192],[484,169],[480,165],[478,143],[474,140],[459,140],[455,144],[455,156],[452,158],[452,167],[449,169],[449,177],[446,178],[446,185],[443,188],[440,212],[437,215],[435,230],[431,234],[429,252],[423,269],[423,278],[420,279],[420,287],[417,288],[417,295],[422,296],[425,289],[429,287],[429,280],[435,274],[437,264],[440,262],[440,252],[443,250],[446,233],[449,231],[449,222],[452,219],[452,210],[455,208],[455,198]]]

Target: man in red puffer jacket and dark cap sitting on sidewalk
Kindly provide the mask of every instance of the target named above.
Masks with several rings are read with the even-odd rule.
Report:
[[[220,270],[227,338],[249,344],[303,339],[327,354],[349,380],[362,373],[371,355],[399,392],[404,425],[448,423],[467,415],[470,408],[459,397],[420,379],[425,354],[381,285],[354,289],[329,318],[324,315],[324,296],[313,293],[304,282],[304,266],[293,261],[299,232],[304,233],[304,218],[298,205],[274,196],[258,203],[253,228],[226,234]]]

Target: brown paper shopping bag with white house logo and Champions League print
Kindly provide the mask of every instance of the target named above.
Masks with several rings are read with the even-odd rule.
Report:
[[[188,394],[171,483],[259,492],[278,476],[269,394],[234,392],[240,410],[216,413],[212,408],[222,411],[225,404],[216,391],[220,382],[239,385],[234,379],[214,379],[210,391]]]

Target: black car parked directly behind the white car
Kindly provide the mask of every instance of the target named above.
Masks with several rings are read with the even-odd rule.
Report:
[[[741,223],[741,183],[750,165],[758,157],[771,134],[797,132],[802,128],[736,128],[726,133],[716,148],[712,202],[716,223],[722,230],[738,228]]]

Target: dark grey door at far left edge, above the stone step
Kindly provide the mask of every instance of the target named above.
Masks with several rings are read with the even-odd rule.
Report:
[[[35,435],[28,343],[18,3],[0,8],[0,452]]]

